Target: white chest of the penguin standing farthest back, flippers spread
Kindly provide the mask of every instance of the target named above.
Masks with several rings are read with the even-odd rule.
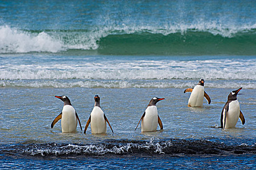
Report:
[[[188,105],[191,107],[202,107],[203,96],[204,96],[204,86],[196,85],[191,92],[190,98],[188,100]]]

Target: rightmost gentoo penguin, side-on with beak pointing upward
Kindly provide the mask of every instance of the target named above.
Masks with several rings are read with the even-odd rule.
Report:
[[[239,88],[237,90],[232,91],[228,95],[228,101],[224,105],[221,117],[220,117],[220,128],[235,128],[238,118],[241,119],[242,124],[245,123],[244,116],[242,112],[240,111],[240,105],[237,101],[236,95],[237,93],[242,89]]]

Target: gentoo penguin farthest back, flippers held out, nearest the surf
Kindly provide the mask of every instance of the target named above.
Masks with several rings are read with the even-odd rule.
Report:
[[[191,92],[190,98],[188,100],[189,107],[202,107],[203,97],[205,97],[208,103],[211,103],[211,99],[208,94],[204,91],[204,80],[201,79],[194,88],[187,88],[184,93]]]

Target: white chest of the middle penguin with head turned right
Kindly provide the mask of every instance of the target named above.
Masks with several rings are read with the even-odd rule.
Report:
[[[145,110],[145,116],[141,121],[141,132],[157,131],[158,127],[158,108],[149,106]]]

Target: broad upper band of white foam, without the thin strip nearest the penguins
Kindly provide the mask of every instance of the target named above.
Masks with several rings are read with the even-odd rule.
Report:
[[[111,61],[0,66],[1,80],[256,80],[256,60]]]

